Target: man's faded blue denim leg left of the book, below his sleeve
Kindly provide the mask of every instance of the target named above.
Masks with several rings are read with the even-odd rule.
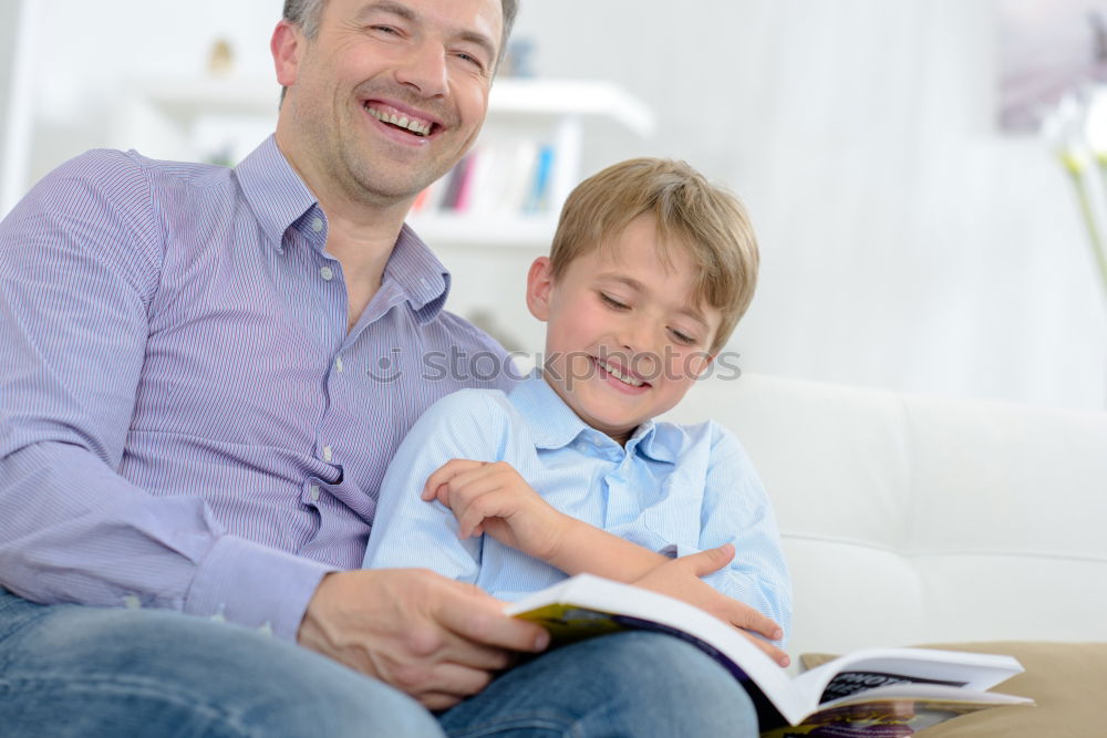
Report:
[[[237,625],[0,589],[0,736],[442,736],[407,696]]]

